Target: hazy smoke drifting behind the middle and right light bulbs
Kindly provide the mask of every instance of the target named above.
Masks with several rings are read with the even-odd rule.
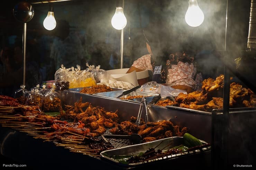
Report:
[[[68,21],[73,31],[84,32],[81,38],[84,39],[82,48],[86,51],[85,60],[90,65],[100,64],[103,69],[110,68],[108,63],[111,56],[116,63],[120,62],[121,31],[111,26],[116,1],[75,1],[63,4],[54,4],[55,18]],[[198,27],[190,27],[185,22],[188,0],[125,1],[124,13],[128,22],[124,29],[124,64],[129,67],[134,60],[147,54],[143,29],[159,37],[159,50],[165,50],[161,52],[187,51],[196,55],[203,50],[224,50],[226,1],[198,0],[198,4],[204,13],[204,22]],[[36,8],[42,11],[46,9],[43,5]],[[238,57],[240,50],[246,48],[249,8],[250,0],[229,2],[232,17],[228,18],[230,26],[227,29],[227,47],[234,51],[234,58]],[[206,59],[195,57],[198,64],[206,66],[217,63],[216,66],[219,66],[216,57],[208,58],[209,54],[204,56]],[[118,68],[119,64],[115,67]]]

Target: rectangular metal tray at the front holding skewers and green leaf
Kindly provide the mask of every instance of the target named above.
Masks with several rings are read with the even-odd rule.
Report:
[[[202,140],[200,141],[202,142],[202,144],[207,144],[207,142],[205,141],[202,141]],[[164,147],[168,146],[165,148],[165,150],[168,150],[170,148],[179,146],[181,144],[183,144],[183,137],[175,136],[175,137],[160,139],[152,142],[141,143],[141,144],[131,145],[123,148],[103,151],[100,153],[100,155],[102,158],[107,159],[113,163],[116,163],[125,167],[132,167],[132,166],[138,166],[138,165],[142,165],[149,162],[150,163],[155,161],[159,162],[159,161],[177,159],[177,158],[186,157],[186,156],[192,156],[194,154],[210,151],[211,149],[211,147],[209,146],[209,147],[202,148],[201,150],[198,149],[198,150],[184,152],[184,153],[172,154],[172,155],[164,156],[162,158],[152,159],[152,160],[138,162],[138,163],[130,163],[130,164],[120,163],[119,161],[111,158],[113,156],[118,156],[118,155],[121,155],[121,156],[122,155],[139,155],[141,152],[145,153],[149,148],[155,148],[155,147],[156,147],[155,150],[158,150],[158,149],[161,150]]]

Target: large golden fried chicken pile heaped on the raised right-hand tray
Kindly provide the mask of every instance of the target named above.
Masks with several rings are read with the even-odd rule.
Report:
[[[180,93],[175,98],[175,102],[178,103],[179,107],[200,111],[211,112],[213,109],[221,109],[223,108],[223,84],[223,74],[215,80],[212,78],[204,79],[201,92],[195,91],[189,94]],[[230,84],[229,100],[230,108],[256,106],[256,96],[254,92],[235,82]]]

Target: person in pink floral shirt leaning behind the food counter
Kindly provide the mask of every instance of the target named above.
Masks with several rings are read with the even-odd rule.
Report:
[[[134,70],[140,72],[148,69],[153,73],[149,81],[166,83],[172,88],[182,89],[187,93],[195,91],[196,82],[194,77],[196,67],[193,65],[194,57],[185,52],[168,55],[164,48],[161,49],[159,47],[157,36],[143,33],[149,54],[135,60],[127,73],[131,73]]]

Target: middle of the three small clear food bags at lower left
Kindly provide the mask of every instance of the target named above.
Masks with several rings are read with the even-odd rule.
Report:
[[[42,109],[43,101],[44,95],[41,92],[39,92],[37,88],[32,88],[31,91],[29,91],[26,105],[38,106],[39,109]]]

